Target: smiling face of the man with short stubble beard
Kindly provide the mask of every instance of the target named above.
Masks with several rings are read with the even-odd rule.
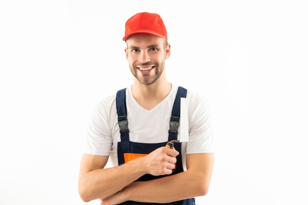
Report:
[[[170,44],[150,34],[134,34],[126,40],[126,59],[133,76],[143,85],[151,85],[164,72],[165,59],[170,55]]]

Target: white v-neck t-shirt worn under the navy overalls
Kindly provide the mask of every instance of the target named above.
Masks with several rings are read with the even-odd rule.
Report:
[[[146,110],[133,98],[131,88],[126,89],[130,141],[138,143],[168,141],[169,122],[177,91],[178,87],[172,86],[170,93],[163,101],[152,110]],[[214,152],[212,120],[206,98],[189,90],[187,90],[186,98],[188,100],[189,141],[182,143],[184,170],[186,170],[186,154]],[[85,153],[109,156],[111,166],[118,166],[117,146],[120,141],[115,93],[95,106],[88,127]]]

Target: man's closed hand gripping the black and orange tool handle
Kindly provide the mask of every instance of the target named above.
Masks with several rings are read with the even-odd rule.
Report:
[[[147,173],[153,176],[172,174],[177,162],[177,155],[179,155],[179,152],[175,148],[170,149],[163,146],[155,149],[143,157]]]

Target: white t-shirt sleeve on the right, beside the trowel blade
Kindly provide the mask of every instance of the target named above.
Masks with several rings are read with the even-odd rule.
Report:
[[[197,94],[189,97],[189,142],[186,153],[214,153],[214,136],[211,111],[208,100]]]

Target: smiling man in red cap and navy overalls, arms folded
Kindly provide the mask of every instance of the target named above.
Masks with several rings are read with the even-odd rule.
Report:
[[[101,199],[101,205],[194,205],[194,197],[207,194],[214,166],[207,101],[166,80],[164,62],[171,50],[158,14],[132,16],[123,40],[134,82],[94,109],[80,165],[80,196],[85,202]],[[188,119],[180,121],[184,99]],[[181,137],[183,121],[188,142],[167,148]],[[105,168],[108,160],[112,168]]]

